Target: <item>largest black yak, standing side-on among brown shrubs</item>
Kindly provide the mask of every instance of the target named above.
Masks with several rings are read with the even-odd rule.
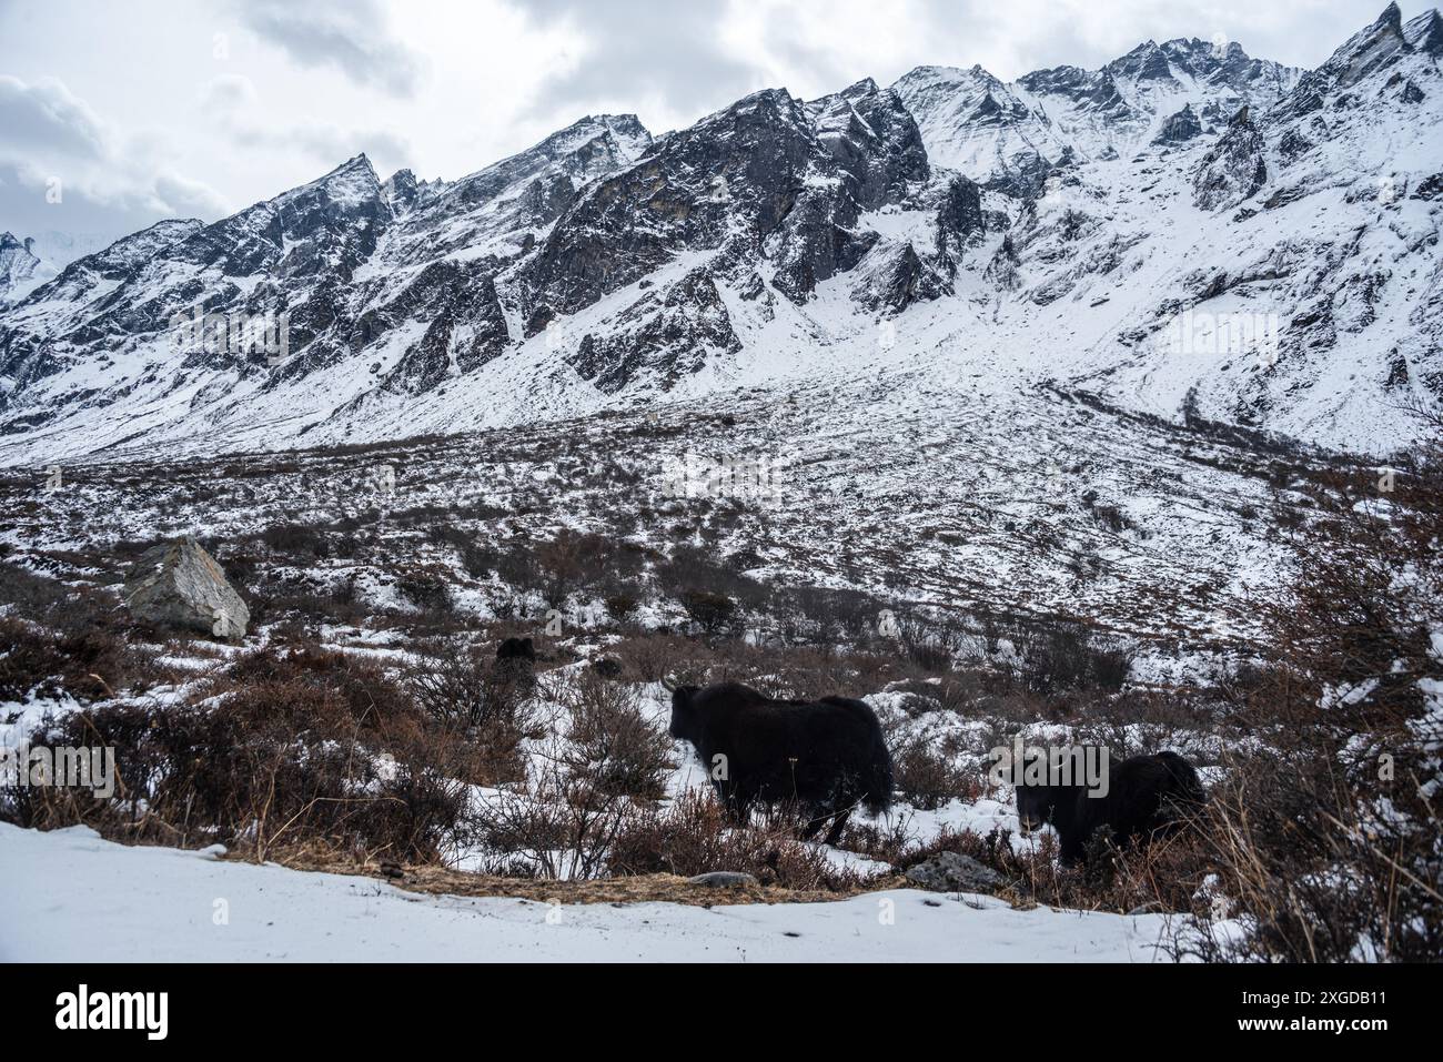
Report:
[[[857,805],[892,804],[892,756],[876,714],[861,701],[773,701],[740,683],[671,695],[671,736],[690,742],[717,795],[737,822],[753,804],[791,804],[811,840],[831,820],[827,844],[841,838]]]

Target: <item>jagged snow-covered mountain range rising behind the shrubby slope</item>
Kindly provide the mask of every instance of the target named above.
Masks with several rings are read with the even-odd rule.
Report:
[[[1390,6],[1310,72],[1147,42],[1012,84],[928,66],[769,89],[655,140],[584,118],[455,182],[358,156],[0,310],[0,462],[833,377],[1048,385],[1390,452],[1404,407],[1443,397],[1440,51],[1437,12]]]

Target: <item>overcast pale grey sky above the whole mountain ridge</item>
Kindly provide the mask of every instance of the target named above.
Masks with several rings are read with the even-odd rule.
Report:
[[[0,231],[214,221],[365,152],[457,177],[584,114],[1095,68],[1149,38],[1315,66],[1384,0],[0,0]],[[1424,10],[1404,7],[1404,17]],[[56,202],[58,199],[58,202]]]

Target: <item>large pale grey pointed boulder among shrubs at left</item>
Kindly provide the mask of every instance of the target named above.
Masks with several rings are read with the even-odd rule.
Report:
[[[147,550],[126,580],[126,605],[140,619],[229,641],[244,638],[251,622],[221,566],[193,538]]]

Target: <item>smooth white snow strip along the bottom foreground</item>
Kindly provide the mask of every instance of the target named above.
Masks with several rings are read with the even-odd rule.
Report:
[[[126,847],[0,824],[6,962],[1153,962],[1163,915],[1013,910],[987,896],[545,905]],[[218,912],[224,910],[227,921]]]

